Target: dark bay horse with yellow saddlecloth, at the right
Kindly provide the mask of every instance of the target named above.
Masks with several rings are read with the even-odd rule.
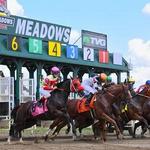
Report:
[[[115,114],[116,121],[121,132],[123,132],[123,126],[131,120],[139,120],[139,123],[135,124],[133,137],[135,137],[135,130],[138,126],[144,125],[146,130],[148,128],[148,120],[146,115],[148,115],[148,111],[150,110],[149,104],[150,97],[145,95],[145,91],[141,91],[138,94],[134,93],[132,100],[124,101],[124,104],[120,102],[114,103],[113,113]],[[126,110],[123,110],[124,107],[126,107]]]

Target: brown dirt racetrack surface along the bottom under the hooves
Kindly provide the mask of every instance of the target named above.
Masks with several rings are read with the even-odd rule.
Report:
[[[111,135],[108,136],[105,144],[91,137],[84,137],[77,141],[69,137],[60,137],[48,142],[39,139],[38,143],[34,142],[34,138],[26,137],[24,143],[12,141],[11,144],[6,142],[6,138],[1,138],[0,150],[150,150],[150,138],[132,139],[126,136],[122,141],[118,141],[115,136]]]

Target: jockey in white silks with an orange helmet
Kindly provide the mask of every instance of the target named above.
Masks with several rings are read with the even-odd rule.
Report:
[[[99,85],[99,88],[102,89],[101,83],[105,82],[106,78],[107,78],[107,75],[105,73],[101,73],[97,76],[85,79],[82,82],[81,85],[84,88],[84,96],[87,97],[87,100],[85,103],[87,106],[89,106],[93,95],[97,92],[98,85]]]

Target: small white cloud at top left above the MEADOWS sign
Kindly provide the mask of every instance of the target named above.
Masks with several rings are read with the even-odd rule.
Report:
[[[8,10],[12,15],[24,16],[24,9],[17,0],[7,0]]]

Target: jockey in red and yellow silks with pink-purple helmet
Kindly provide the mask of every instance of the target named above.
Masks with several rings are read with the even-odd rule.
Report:
[[[43,79],[40,88],[40,94],[45,99],[50,96],[50,92],[57,88],[57,83],[60,82],[60,70],[58,67],[51,68],[51,74]]]

